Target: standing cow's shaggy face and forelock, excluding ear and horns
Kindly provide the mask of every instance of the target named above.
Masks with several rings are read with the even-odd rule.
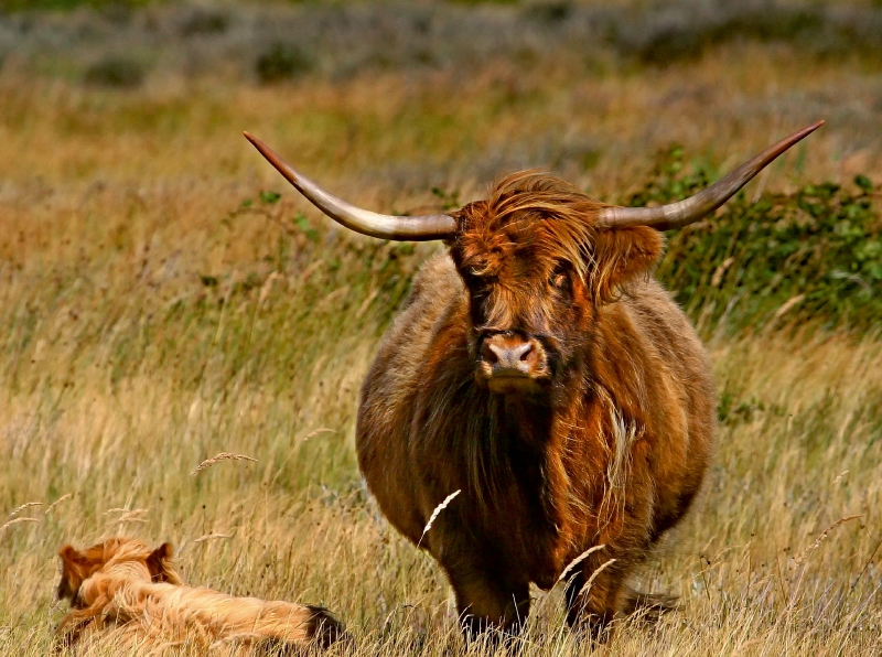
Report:
[[[596,207],[561,181],[527,173],[460,211],[451,256],[469,292],[478,380],[492,378],[488,358],[529,343],[537,362],[526,374],[547,389],[580,352],[593,316],[585,279]],[[487,340],[498,344],[487,348]],[[503,375],[518,374],[513,363]]]

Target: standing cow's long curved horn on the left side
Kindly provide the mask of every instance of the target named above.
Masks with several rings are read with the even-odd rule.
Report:
[[[335,222],[343,224],[346,228],[379,237],[383,239],[396,239],[399,241],[429,241],[431,239],[444,239],[453,236],[456,230],[456,220],[450,215],[423,215],[415,217],[399,217],[394,215],[380,215],[375,212],[355,207],[322,190],[306,176],[298,173],[293,166],[288,164],[266,143],[245,132],[245,138],[260,151],[269,163],[279,170],[288,182],[294,185],[315,207],[321,209]]]

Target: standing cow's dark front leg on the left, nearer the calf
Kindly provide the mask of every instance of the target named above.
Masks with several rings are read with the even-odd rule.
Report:
[[[474,566],[445,568],[456,593],[456,610],[466,638],[487,629],[520,632],[530,611],[529,582]]]

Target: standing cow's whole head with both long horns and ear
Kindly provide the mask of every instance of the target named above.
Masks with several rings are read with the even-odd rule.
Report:
[[[660,230],[707,216],[764,166],[818,129],[799,130],[690,198],[660,207],[610,206],[535,171],[499,181],[451,214],[390,216],[337,198],[245,136],[309,201],[357,233],[443,239],[469,293],[475,378],[496,394],[535,394],[558,380],[592,334],[596,309],[647,274]]]

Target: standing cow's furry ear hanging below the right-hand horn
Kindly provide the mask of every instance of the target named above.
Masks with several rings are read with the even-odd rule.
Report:
[[[596,298],[604,303],[616,299],[623,287],[652,270],[664,248],[665,237],[647,226],[598,230],[590,269]]]

